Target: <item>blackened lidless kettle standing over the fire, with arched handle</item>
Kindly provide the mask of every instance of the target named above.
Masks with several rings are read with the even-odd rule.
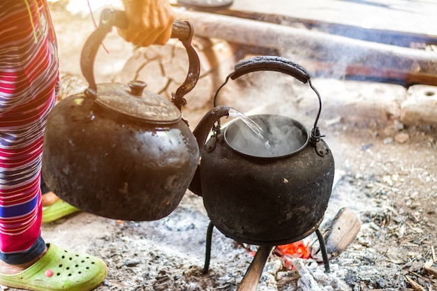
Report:
[[[282,57],[240,61],[224,84],[256,70],[274,70],[308,82],[321,109],[309,73]],[[288,244],[316,230],[334,179],[334,158],[317,127],[320,109],[311,133],[288,117],[251,116],[266,140],[249,137],[251,130],[247,131],[242,119],[224,130],[218,122],[189,187],[203,197],[218,230],[237,241],[265,246]]]

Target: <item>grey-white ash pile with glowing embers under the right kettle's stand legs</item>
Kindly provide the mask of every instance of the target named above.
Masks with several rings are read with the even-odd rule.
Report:
[[[342,191],[341,186],[337,188]],[[328,209],[327,216],[332,213]],[[359,234],[329,260],[329,273],[320,262],[315,234],[301,241],[312,252],[309,255],[300,251],[281,256],[275,250],[256,290],[406,290],[402,267],[371,247],[379,228],[373,218],[374,213],[364,212]],[[97,290],[237,290],[258,248],[214,230],[209,271],[202,274],[209,219],[201,198],[191,193],[160,221],[112,223],[117,232],[94,242],[110,270]],[[327,220],[322,229],[331,224]]]

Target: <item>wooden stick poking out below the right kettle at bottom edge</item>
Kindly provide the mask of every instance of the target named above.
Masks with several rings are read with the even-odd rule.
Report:
[[[267,258],[269,258],[270,253],[272,253],[272,249],[273,246],[260,246],[258,248],[255,258],[253,258],[253,261],[251,262],[249,269],[247,269],[237,291],[256,290],[256,286],[258,286],[258,282],[260,281],[262,269],[264,269],[265,262],[267,261]]]

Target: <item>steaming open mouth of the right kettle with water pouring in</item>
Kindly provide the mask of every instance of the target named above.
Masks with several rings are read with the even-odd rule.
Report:
[[[262,114],[249,118],[237,110],[229,113],[239,119],[225,129],[225,140],[242,154],[261,158],[288,156],[308,140],[302,124],[288,117]]]

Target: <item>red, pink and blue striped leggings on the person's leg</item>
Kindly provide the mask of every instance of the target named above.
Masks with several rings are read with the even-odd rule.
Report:
[[[22,264],[40,238],[45,121],[57,97],[58,64],[45,0],[0,3],[0,259]]]

